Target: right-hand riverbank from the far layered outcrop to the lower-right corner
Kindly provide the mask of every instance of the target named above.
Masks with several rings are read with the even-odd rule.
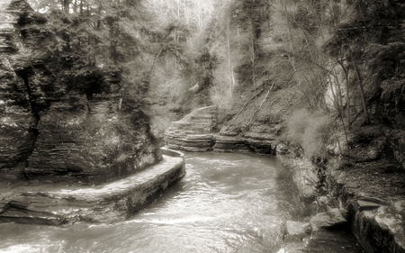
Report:
[[[357,130],[351,137],[351,162],[338,153],[330,152],[328,158],[310,160],[302,149],[283,144],[276,131],[243,133],[228,131],[226,127],[220,132],[215,131],[211,122],[217,122],[212,120],[217,112],[213,108],[198,109],[198,112],[204,112],[202,118],[193,113],[193,117],[184,117],[181,124],[173,124],[166,131],[167,145],[188,151],[211,149],[217,152],[276,154],[284,167],[293,171],[293,179],[302,197],[313,200],[311,218],[322,213],[324,221],[329,223],[328,219],[338,211],[338,220],[345,221],[365,252],[405,252],[405,171],[399,159],[401,145],[394,145],[396,142],[391,141],[391,131],[376,135],[378,140],[383,141],[376,146],[376,137],[372,133],[381,129],[371,126]],[[204,119],[209,119],[206,122],[210,128],[198,131],[195,126]],[[179,125],[182,127],[179,128]],[[202,146],[199,146],[200,143]],[[207,146],[207,143],[211,145]],[[390,149],[384,149],[386,146]],[[322,226],[334,226],[329,225]],[[311,221],[308,221],[308,226],[312,226]],[[311,227],[311,230],[311,235],[316,237],[319,232],[315,230],[318,228]],[[292,250],[300,248],[305,248],[302,240]]]

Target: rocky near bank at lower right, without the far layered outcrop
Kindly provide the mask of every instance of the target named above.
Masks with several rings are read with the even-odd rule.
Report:
[[[293,152],[278,157],[318,212],[340,212],[365,252],[405,252],[405,178],[383,171],[390,161],[334,167],[338,160],[315,166]]]

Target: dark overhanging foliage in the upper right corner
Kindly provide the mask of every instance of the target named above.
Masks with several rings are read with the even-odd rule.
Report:
[[[355,83],[365,89],[363,110],[379,104],[390,94],[391,85],[401,90],[403,79],[405,5],[401,1],[348,1],[352,12],[346,22],[338,25],[323,49],[335,59],[347,60],[347,71],[356,73]],[[384,85],[382,85],[384,84]],[[352,87],[354,89],[354,87]],[[401,92],[400,92],[401,94]],[[396,100],[402,100],[401,95]],[[390,103],[390,100],[385,100]],[[393,104],[392,109],[400,104]]]

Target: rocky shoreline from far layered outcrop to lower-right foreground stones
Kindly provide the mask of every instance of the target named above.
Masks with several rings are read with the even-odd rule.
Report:
[[[200,108],[199,112],[210,112],[211,118],[216,115],[212,106]],[[194,120],[198,118],[198,113],[193,115],[181,121],[188,129],[193,129]],[[204,118],[210,117],[205,114]],[[294,223],[297,221],[287,222],[283,252],[306,252],[305,247],[311,243],[311,238],[316,239],[322,233],[336,228],[351,230],[365,252],[405,252],[405,196],[401,192],[401,184],[405,179],[401,170],[388,174],[379,171],[390,167],[389,160],[365,161],[342,168],[338,165],[344,163],[337,156],[331,155],[327,164],[317,164],[305,158],[302,150],[277,143],[266,132],[241,136],[238,133],[218,133],[213,129],[210,124],[210,128],[203,132],[182,132],[173,124],[166,131],[166,144],[187,151],[276,154],[284,166],[293,171],[293,179],[302,197],[313,200],[314,212],[309,221],[300,224]],[[175,136],[172,134],[174,131]],[[198,147],[200,142],[187,141],[199,134],[203,134],[207,140],[211,138],[210,147],[206,144]],[[396,157],[401,157],[401,154],[397,152]],[[367,173],[373,175],[367,176]],[[395,178],[397,181],[390,181]],[[398,187],[394,188],[395,185]]]

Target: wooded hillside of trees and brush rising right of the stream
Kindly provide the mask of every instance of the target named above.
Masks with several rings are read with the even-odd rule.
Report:
[[[310,158],[364,159],[352,151],[364,125],[389,126],[383,147],[403,131],[401,1],[214,6],[187,39],[188,64],[166,79],[172,112],[215,104],[221,133],[291,142]],[[394,139],[400,149],[403,140]]]

